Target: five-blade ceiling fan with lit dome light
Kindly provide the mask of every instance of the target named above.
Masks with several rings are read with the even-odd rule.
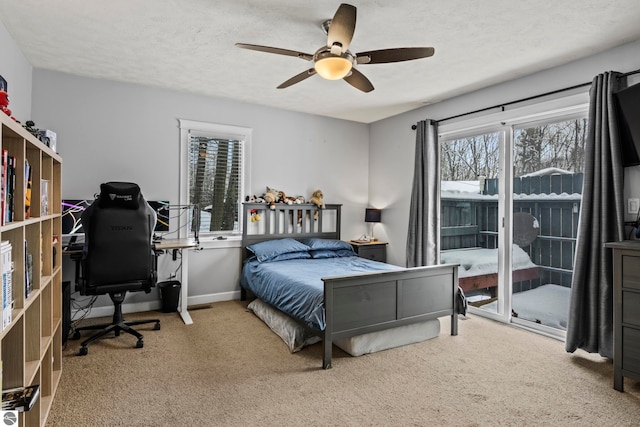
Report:
[[[278,86],[278,89],[287,88],[314,74],[319,74],[327,80],[343,79],[363,92],[371,92],[373,85],[354,65],[411,61],[413,59],[426,58],[435,53],[432,47],[400,47],[371,50],[356,54],[351,53],[349,45],[356,29],[356,7],[346,3],[342,3],[333,19],[325,21],[322,27],[327,33],[327,45],[322,46],[313,55],[256,44],[236,43],[236,46],[243,49],[295,56],[306,61],[313,61],[312,68],[291,77]]]

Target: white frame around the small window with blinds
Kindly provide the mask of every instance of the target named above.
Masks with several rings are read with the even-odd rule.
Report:
[[[235,139],[241,141],[242,164],[240,176],[240,194],[238,195],[242,202],[249,191],[249,183],[251,182],[251,138],[253,129],[241,126],[223,125],[217,123],[199,122],[194,120],[178,119],[180,124],[180,188],[179,200],[181,206],[189,206],[189,132],[205,132],[213,138]],[[189,237],[189,215],[180,215],[178,237]],[[225,236],[230,240],[240,240],[242,236],[242,209],[238,211],[238,231],[228,233],[201,233],[200,243],[206,243],[216,239],[218,236]]]

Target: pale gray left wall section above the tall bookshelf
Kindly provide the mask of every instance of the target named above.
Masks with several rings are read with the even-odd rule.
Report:
[[[33,67],[0,22],[0,76],[7,81],[11,115],[25,123],[31,119],[31,74]]]

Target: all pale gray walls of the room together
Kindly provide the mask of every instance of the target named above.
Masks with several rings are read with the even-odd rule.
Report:
[[[389,242],[388,260],[397,265],[405,263],[415,148],[412,124],[586,83],[604,71],[640,68],[640,42],[634,42],[367,126],[197,94],[32,70],[2,23],[0,49],[0,74],[9,82],[14,116],[21,121],[33,118],[37,127],[58,133],[58,152],[64,159],[63,197],[88,198],[101,182],[118,179],[140,183],[148,199],[176,203],[177,119],[250,127],[254,132],[252,192],[260,194],[269,185],[308,196],[315,188],[322,188],[327,202],[344,205],[345,239],[367,231],[362,222],[364,207],[383,208],[383,223],[376,225],[375,234]],[[626,197],[640,197],[640,168],[626,172]],[[227,245],[233,246],[233,242]],[[190,303],[235,295],[239,262],[236,247],[192,253]],[[155,295],[137,299],[150,301]]]

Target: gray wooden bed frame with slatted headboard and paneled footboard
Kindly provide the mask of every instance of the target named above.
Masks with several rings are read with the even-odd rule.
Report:
[[[342,205],[318,209],[311,204],[243,204],[243,242],[247,246],[271,239],[340,238]],[[251,212],[263,224],[250,223]],[[313,219],[318,212],[317,220]],[[298,221],[300,224],[298,224]],[[245,250],[245,257],[248,256]],[[322,278],[324,331],[312,330],[323,340],[322,367],[331,368],[333,342],[369,332],[451,316],[451,335],[458,335],[458,264],[406,268],[376,273]],[[247,290],[241,289],[243,300]],[[298,323],[298,319],[293,319]],[[306,325],[305,328],[309,329]]]

